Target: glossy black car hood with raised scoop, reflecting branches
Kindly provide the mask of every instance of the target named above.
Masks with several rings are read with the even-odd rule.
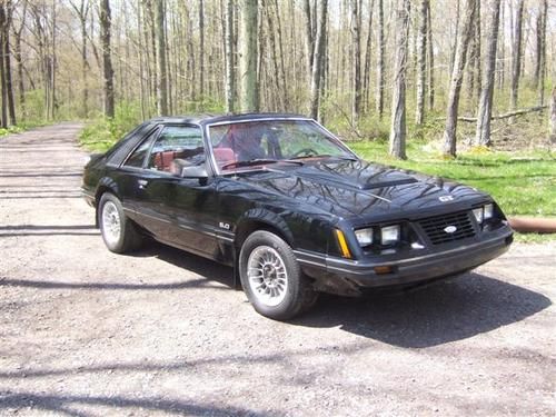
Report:
[[[457,182],[361,160],[277,163],[238,173],[236,180],[341,218],[375,220],[454,210],[487,197]]]

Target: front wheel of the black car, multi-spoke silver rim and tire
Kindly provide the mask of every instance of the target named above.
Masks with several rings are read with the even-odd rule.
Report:
[[[289,245],[267,230],[252,232],[244,242],[239,275],[255,310],[275,320],[294,318],[318,297]]]

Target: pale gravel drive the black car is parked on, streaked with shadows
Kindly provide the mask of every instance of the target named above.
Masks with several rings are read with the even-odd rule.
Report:
[[[0,415],[554,416],[556,245],[275,322],[227,268],[110,254],[79,128],[0,138]]]

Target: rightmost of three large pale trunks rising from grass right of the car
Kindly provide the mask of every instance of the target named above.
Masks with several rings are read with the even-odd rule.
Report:
[[[498,48],[498,27],[500,17],[500,0],[492,2],[490,31],[487,36],[488,47],[485,54],[485,79],[480,89],[479,108],[477,112],[477,131],[475,143],[490,146],[490,116],[493,115],[493,96],[496,72],[496,51]]]

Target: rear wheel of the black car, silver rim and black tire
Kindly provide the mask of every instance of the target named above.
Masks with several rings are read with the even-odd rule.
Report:
[[[141,246],[142,236],[137,226],[123,212],[120,200],[110,192],[100,198],[98,222],[102,240],[110,251],[126,254]]]

